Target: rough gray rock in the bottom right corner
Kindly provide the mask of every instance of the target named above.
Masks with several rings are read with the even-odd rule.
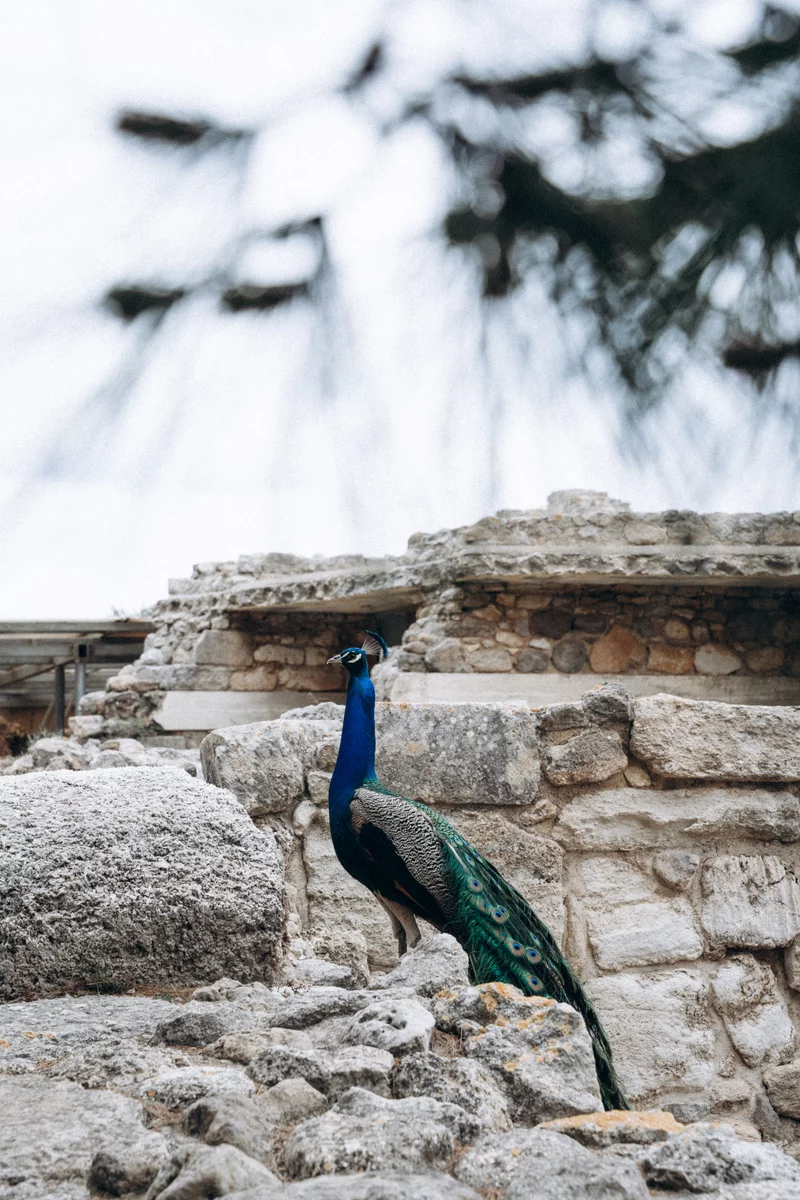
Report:
[[[800,1183],[800,1163],[777,1146],[742,1141],[732,1129],[697,1126],[648,1146],[639,1158],[648,1183],[686,1192],[764,1180]]]

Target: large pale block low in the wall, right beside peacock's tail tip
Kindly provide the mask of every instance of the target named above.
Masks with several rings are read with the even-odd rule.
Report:
[[[708,1087],[715,1073],[714,1031],[699,972],[622,972],[585,986],[628,1099]]]

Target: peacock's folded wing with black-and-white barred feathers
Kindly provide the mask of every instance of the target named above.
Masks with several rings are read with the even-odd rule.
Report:
[[[374,863],[386,899],[445,929],[456,916],[447,852],[431,810],[385,788],[360,787],[350,803],[359,845]],[[392,889],[395,894],[392,895]]]

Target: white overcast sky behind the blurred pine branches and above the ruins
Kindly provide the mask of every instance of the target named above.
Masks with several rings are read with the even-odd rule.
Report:
[[[721,26],[746,32],[759,10],[672,6],[709,42]],[[530,36],[531,7],[546,37]],[[535,280],[515,308],[524,358],[507,317],[481,317],[469,264],[437,238],[455,180],[429,130],[385,137],[336,91],[379,29],[390,113],[464,62],[573,58],[587,7],[2,6],[0,618],[134,613],[192,563],[243,552],[398,553],[417,529],[541,506],[565,487],[637,509],[800,506],[783,428],[753,434],[744,389],[716,374],[688,371],[645,427],[652,452],[626,457],[614,397],[565,374],[564,331]],[[121,137],[124,107],[260,132],[241,169],[230,148],[192,157]],[[221,312],[207,282],[219,264],[242,281],[301,272],[314,246],[269,234],[319,211],[325,304]],[[231,258],[242,232],[251,242]],[[206,283],[145,346],[140,323],[100,302],[131,281]]]

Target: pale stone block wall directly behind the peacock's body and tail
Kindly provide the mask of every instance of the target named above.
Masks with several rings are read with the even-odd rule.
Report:
[[[341,715],[216,731],[201,758],[275,829],[294,935],[362,934],[389,966],[389,922],[327,829]],[[549,923],[638,1106],[798,1140],[798,709],[607,685],[539,712],[379,704],[377,721],[381,780],[435,804]]]

